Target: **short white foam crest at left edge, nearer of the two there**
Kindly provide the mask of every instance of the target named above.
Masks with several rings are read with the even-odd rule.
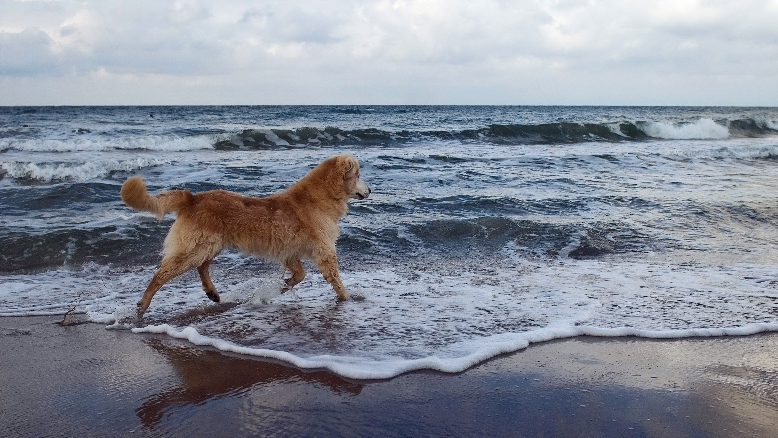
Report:
[[[11,178],[29,178],[38,181],[86,181],[102,178],[112,171],[135,171],[160,164],[171,164],[160,158],[135,158],[132,160],[101,160],[86,163],[29,163],[19,161],[0,162]]]

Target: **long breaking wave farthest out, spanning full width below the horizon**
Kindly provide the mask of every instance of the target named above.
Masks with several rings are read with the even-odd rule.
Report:
[[[622,121],[604,123],[493,124],[477,129],[390,131],[377,128],[244,129],[240,132],[192,136],[135,136],[30,140],[0,139],[0,151],[72,152],[82,150],[185,151],[216,148],[275,149],[331,146],[382,146],[419,141],[493,144],[558,144],[598,141],[721,140],[778,135],[778,122],[768,118],[699,118],[689,122]]]

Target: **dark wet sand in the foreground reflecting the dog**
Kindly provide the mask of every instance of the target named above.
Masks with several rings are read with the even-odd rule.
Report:
[[[159,334],[0,318],[0,436],[778,436],[778,334],[533,344],[345,380]]]

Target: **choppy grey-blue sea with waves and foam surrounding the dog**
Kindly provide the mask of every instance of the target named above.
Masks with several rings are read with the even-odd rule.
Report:
[[[175,220],[125,179],[265,196],[342,153],[373,190],[339,223],[354,299],[311,263],[278,295],[282,267],[227,250],[225,303],[191,271],[124,317]],[[0,107],[0,325],[65,313],[353,379],[778,330],[778,108]]]

